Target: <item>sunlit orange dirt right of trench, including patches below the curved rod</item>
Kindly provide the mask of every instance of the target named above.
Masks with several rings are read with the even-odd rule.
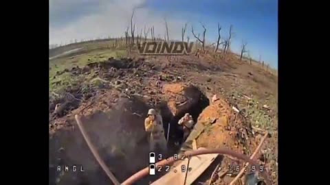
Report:
[[[256,141],[251,131],[249,121],[245,117],[232,110],[230,103],[220,97],[201,112],[197,125],[203,125],[201,134],[197,137],[197,147],[206,148],[228,148],[238,153],[251,156],[259,140]],[[221,158],[214,165],[221,164],[221,169],[243,166],[230,158]],[[215,166],[210,167],[199,180],[209,180]],[[216,183],[230,184],[232,177],[219,178]]]

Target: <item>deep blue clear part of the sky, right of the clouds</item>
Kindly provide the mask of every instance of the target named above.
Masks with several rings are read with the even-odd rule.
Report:
[[[199,21],[206,28],[210,40],[217,39],[217,23],[222,26],[221,34],[228,35],[230,24],[235,37],[232,49],[239,51],[242,41],[248,42],[248,49],[254,58],[265,60],[277,68],[278,63],[278,1],[277,0],[155,0],[148,5],[165,14],[180,12],[194,29]],[[191,14],[193,13],[193,16]],[[208,34],[212,32],[212,34]]]

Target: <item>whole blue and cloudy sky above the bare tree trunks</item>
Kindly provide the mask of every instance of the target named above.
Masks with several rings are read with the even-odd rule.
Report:
[[[202,22],[208,42],[217,40],[217,24],[221,36],[227,37],[234,28],[232,50],[239,52],[242,41],[256,60],[278,66],[278,1],[277,0],[50,0],[50,43],[69,39],[122,36],[136,10],[137,30],[155,25],[155,34],[164,35],[164,18],[168,21],[170,37],[180,38],[181,27],[188,23],[201,33]],[[157,32],[157,33],[156,33]],[[194,39],[195,40],[195,39]]]

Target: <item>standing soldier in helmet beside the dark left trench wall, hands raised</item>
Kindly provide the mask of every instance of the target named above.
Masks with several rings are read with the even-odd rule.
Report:
[[[164,135],[162,116],[156,113],[156,110],[148,110],[148,117],[144,120],[144,127],[148,133],[150,150],[155,150],[155,145],[159,145],[162,151],[167,151],[167,143]]]

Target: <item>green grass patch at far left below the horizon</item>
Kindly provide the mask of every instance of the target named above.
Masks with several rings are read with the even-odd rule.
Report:
[[[76,86],[81,83],[89,82],[89,80],[95,78],[94,71],[87,76],[85,75],[72,75],[72,73],[63,73],[56,75],[57,72],[62,72],[65,69],[71,70],[73,67],[79,66],[83,68],[92,62],[102,62],[108,58],[122,58],[126,55],[126,50],[114,50],[114,49],[96,49],[97,46],[93,46],[92,51],[86,53],[80,53],[76,56],[67,56],[63,58],[56,58],[50,60],[50,91],[55,93],[62,93],[68,86]],[[54,78],[54,76],[56,77]],[[56,84],[60,82],[61,84]]]

